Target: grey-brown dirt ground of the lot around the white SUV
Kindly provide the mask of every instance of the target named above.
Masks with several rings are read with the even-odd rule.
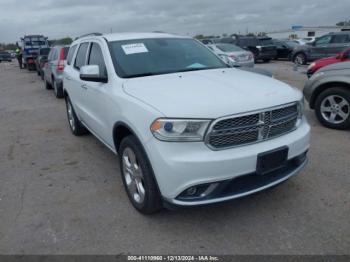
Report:
[[[288,62],[260,64],[302,88]],[[1,254],[350,254],[350,133],[312,125],[310,163],[224,204],[143,216],[116,156],[77,138],[36,73],[0,64]]]

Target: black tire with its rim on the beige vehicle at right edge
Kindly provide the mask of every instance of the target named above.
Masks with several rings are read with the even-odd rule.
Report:
[[[332,129],[349,129],[350,90],[344,87],[326,89],[316,98],[315,112],[322,125]]]

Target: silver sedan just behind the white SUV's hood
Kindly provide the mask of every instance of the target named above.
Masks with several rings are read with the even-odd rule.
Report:
[[[236,67],[254,67],[254,55],[233,44],[210,44],[207,45],[226,64]]]

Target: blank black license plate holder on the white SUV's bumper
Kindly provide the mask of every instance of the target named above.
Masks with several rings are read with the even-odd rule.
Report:
[[[288,150],[289,148],[284,146],[258,154],[256,172],[265,175],[285,167],[288,161]]]

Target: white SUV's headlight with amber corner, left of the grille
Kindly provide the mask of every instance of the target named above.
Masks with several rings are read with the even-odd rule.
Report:
[[[199,142],[211,120],[159,118],[151,125],[152,134],[162,141]]]

